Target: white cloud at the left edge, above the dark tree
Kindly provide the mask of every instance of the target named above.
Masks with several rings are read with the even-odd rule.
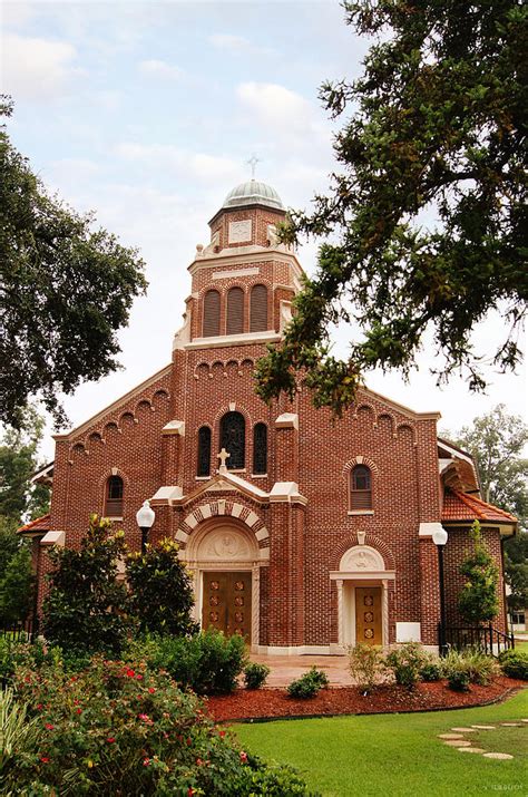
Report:
[[[62,94],[69,80],[82,70],[75,68],[75,47],[7,33],[3,37],[2,90],[14,99],[49,99]]]

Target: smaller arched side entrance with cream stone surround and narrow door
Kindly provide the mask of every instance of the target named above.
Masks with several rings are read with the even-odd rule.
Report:
[[[330,574],[338,587],[338,640],[345,649],[360,642],[389,644],[389,582],[382,555],[369,545],[354,545]]]

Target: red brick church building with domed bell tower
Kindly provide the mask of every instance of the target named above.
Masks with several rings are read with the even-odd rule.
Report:
[[[448,623],[475,518],[500,568],[511,515],[483,503],[471,457],[439,439],[438,412],[366,388],[336,422],[301,391],[265,406],[253,371],[281,340],[300,290],[295,252],[276,242],[285,210],[255,179],[226,197],[198,245],[170,362],[56,437],[50,515],[23,526],[42,593],[51,544],[75,546],[97,512],[140,545],[176,538],[203,628],[244,634],[261,653],[340,653],[360,641],[438,644],[443,527]]]

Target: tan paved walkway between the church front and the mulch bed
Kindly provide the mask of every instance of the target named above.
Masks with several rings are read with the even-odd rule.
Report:
[[[300,678],[303,672],[316,667],[324,670],[330,683],[333,687],[350,687],[353,683],[349,672],[348,655],[252,655],[252,661],[258,664],[267,664],[271,672],[266,680],[266,687],[287,687],[294,679]]]

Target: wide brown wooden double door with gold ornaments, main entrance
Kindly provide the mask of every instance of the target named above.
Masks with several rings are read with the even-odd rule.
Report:
[[[238,634],[251,643],[252,574],[204,572],[202,628]]]

